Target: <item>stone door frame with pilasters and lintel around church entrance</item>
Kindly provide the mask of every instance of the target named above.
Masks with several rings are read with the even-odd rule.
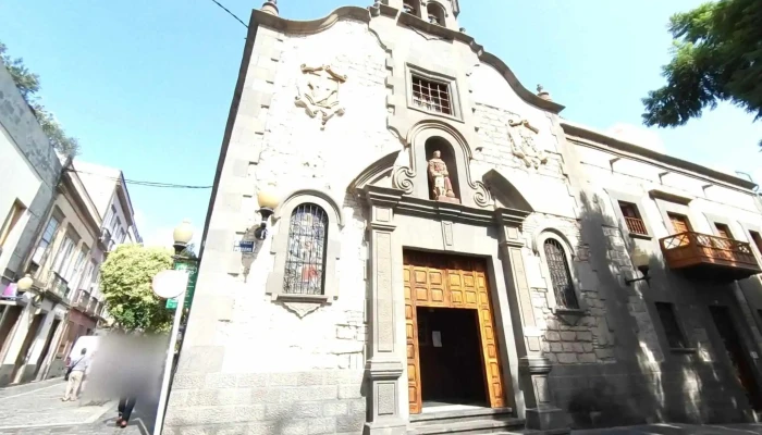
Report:
[[[513,393],[507,405],[531,428],[567,427],[565,419],[558,423],[563,412],[551,405],[551,365],[540,352],[540,338],[528,336],[523,326],[534,324],[521,257],[521,224],[530,212],[435,202],[390,187],[356,187],[368,206],[370,250],[365,433],[404,434],[409,421],[403,248],[486,259],[504,382]]]

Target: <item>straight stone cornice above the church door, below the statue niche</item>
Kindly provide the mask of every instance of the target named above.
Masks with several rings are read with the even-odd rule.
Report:
[[[523,210],[479,209],[409,197],[405,196],[402,189],[391,187],[365,186],[359,190],[359,194],[371,207],[392,208],[396,214],[417,215],[471,225],[491,226],[497,223],[500,225],[521,226],[529,215],[529,212]]]

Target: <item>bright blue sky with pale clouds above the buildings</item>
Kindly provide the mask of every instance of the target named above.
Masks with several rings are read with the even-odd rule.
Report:
[[[220,2],[246,23],[261,7]],[[641,125],[640,99],[663,83],[660,66],[669,59],[668,17],[700,2],[460,0],[459,21],[527,88],[551,91],[566,105],[564,117],[609,130]],[[308,20],[371,3],[279,7],[281,16]],[[127,179],[212,184],[245,36],[211,0],[0,1],[0,40],[40,75],[44,103],[79,138],[81,158],[120,167]],[[762,183],[762,123],[740,109],[722,105],[686,126],[650,132],[637,135],[668,154]],[[200,238],[209,189],[131,186],[130,194],[147,243],[171,243],[185,217]]]

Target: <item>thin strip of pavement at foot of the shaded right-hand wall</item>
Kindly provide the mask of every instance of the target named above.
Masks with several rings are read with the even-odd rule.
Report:
[[[572,431],[572,435],[762,435],[762,423],[680,424],[660,423],[643,426]]]

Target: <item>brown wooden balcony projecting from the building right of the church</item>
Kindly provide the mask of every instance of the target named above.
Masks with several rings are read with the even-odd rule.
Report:
[[[697,277],[733,281],[762,272],[745,241],[686,232],[664,237],[660,245],[669,269],[685,270]]]

